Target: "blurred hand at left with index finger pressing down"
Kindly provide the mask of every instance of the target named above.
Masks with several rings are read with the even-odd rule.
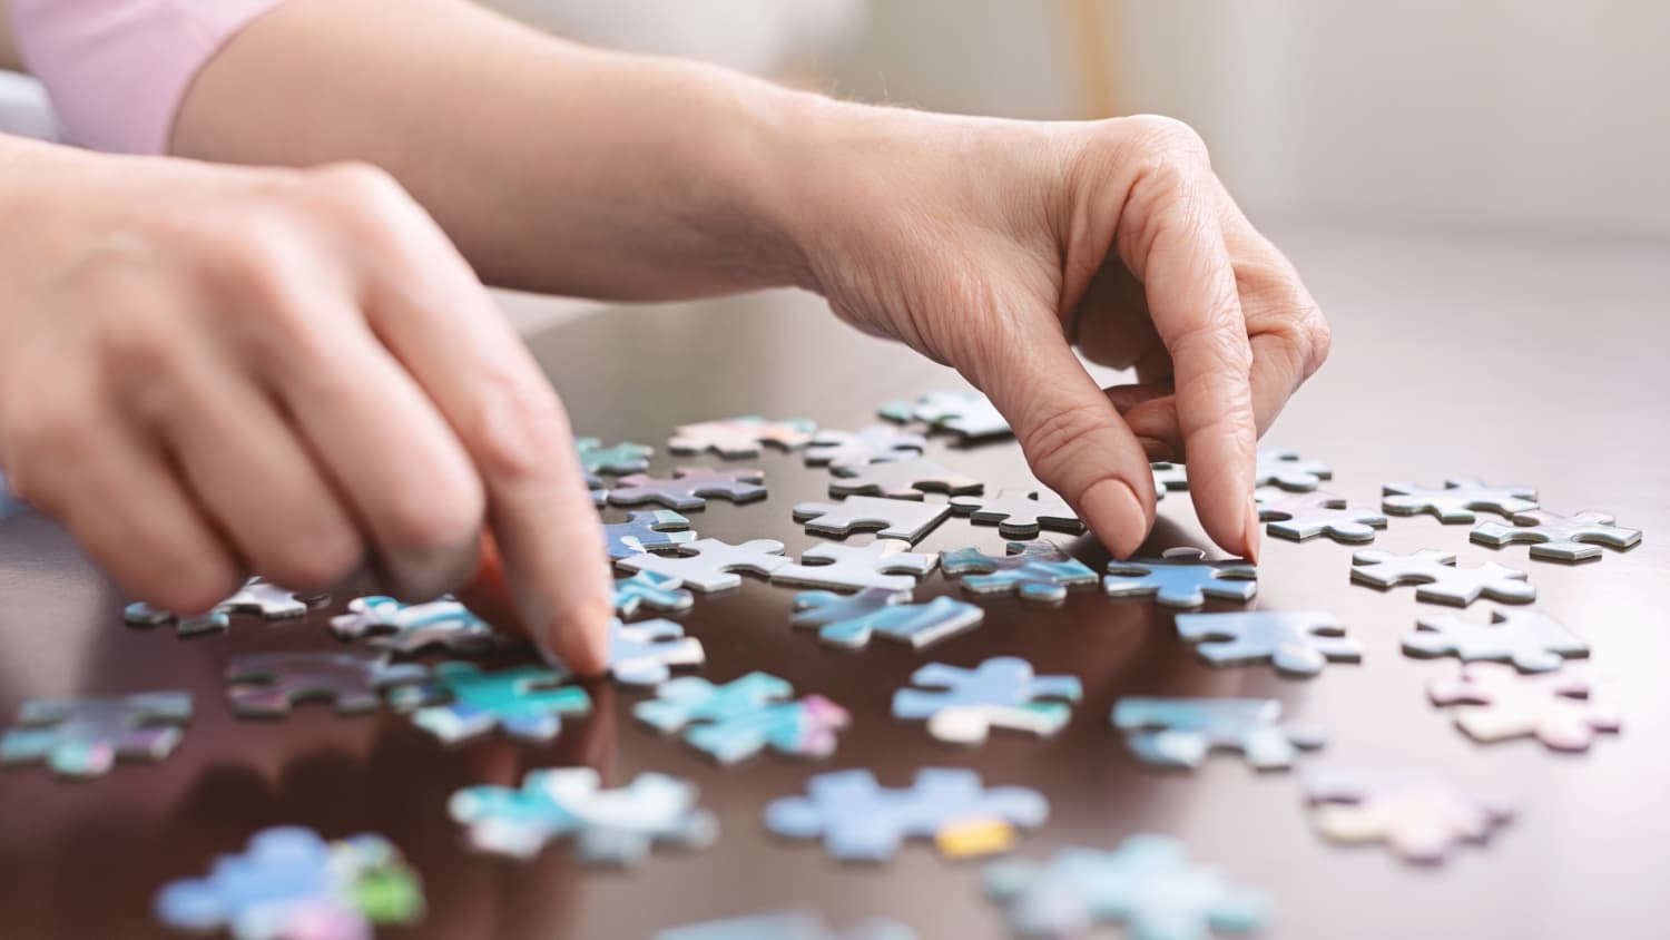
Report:
[[[0,182],[0,467],[135,596],[463,584],[605,660],[610,568],[556,392],[381,170],[40,149]],[[15,184],[15,185],[13,185]]]

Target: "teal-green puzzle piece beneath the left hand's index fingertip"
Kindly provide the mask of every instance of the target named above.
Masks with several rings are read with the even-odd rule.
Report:
[[[392,690],[389,705],[411,711],[414,725],[448,745],[494,728],[524,741],[549,741],[561,731],[563,715],[591,711],[591,696],[563,686],[566,678],[539,666],[484,673],[474,663],[449,661],[433,670],[429,683]]]

